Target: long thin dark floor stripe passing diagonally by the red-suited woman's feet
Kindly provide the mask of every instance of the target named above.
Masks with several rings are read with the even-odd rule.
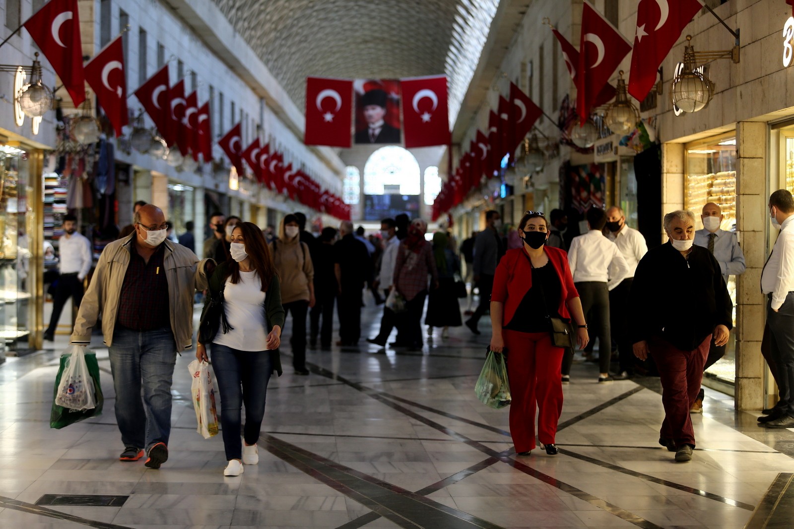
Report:
[[[619,508],[617,505],[607,502],[606,500],[602,500],[601,498],[595,497],[590,493],[586,493],[584,492],[584,490],[576,489],[576,487],[569,485],[563,481],[559,481],[556,478],[551,477],[548,474],[542,473],[540,470],[536,470],[530,466],[527,466],[522,462],[518,462],[515,459],[502,455],[496,450],[493,450],[485,446],[483,443],[476,443],[476,441],[469,439],[465,435],[459,434],[457,431],[454,431],[449,427],[445,427],[443,424],[439,424],[434,420],[427,419],[426,417],[421,416],[416,412],[412,412],[410,409],[405,408],[400,404],[390,401],[386,397],[380,395],[380,392],[377,392],[374,389],[367,388],[366,386],[358,384],[357,382],[349,381],[346,378],[341,377],[340,375],[337,374],[333,374],[333,372],[331,372],[330,370],[327,370],[326,368],[321,366],[317,366],[313,363],[306,362],[306,366],[309,366],[309,369],[316,374],[328,378],[333,377],[334,380],[343,381],[351,388],[357,389],[358,391],[364,393],[368,397],[372,397],[376,401],[386,404],[390,408],[395,409],[395,411],[401,412],[414,420],[418,420],[422,424],[426,424],[427,426],[430,426],[436,429],[437,431],[441,431],[442,433],[445,433],[446,435],[453,437],[453,439],[457,439],[458,441],[466,444],[469,447],[475,448],[476,450],[480,450],[484,454],[488,454],[493,458],[498,458],[500,461],[505,462],[510,466],[513,466],[516,470],[526,473],[534,477],[535,479],[538,479],[539,481],[543,481],[548,485],[552,485],[557,489],[561,489],[562,491],[565,491],[566,493],[569,493],[572,496],[576,496],[580,500],[587,501],[589,504],[592,504],[595,507],[603,509],[604,511],[607,511],[615,516],[618,516],[619,518],[624,519],[626,522],[632,523],[637,527],[643,527],[643,529],[657,529],[657,527],[659,527],[655,523],[651,523],[648,520],[642,518],[641,516],[637,516],[632,512],[628,512],[622,508]]]

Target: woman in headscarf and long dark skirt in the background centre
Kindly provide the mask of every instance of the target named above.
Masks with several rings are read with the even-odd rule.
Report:
[[[442,327],[441,338],[449,336],[449,327],[460,327],[461,305],[457,303],[455,274],[461,273],[461,260],[449,247],[449,236],[444,232],[433,234],[433,258],[438,273],[438,288],[430,290],[427,300],[427,335],[434,327]]]

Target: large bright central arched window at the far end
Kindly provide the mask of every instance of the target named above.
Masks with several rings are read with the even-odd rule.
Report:
[[[419,178],[419,163],[410,151],[393,145],[383,147],[364,165],[364,194],[418,195]]]

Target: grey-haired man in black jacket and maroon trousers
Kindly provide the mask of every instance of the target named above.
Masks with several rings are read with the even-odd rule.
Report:
[[[676,452],[676,461],[692,459],[695,433],[689,408],[703,379],[711,337],[728,341],[730,301],[719,263],[704,247],[693,246],[695,215],[665,215],[669,241],[639,262],[630,293],[630,329],[634,355],[653,357],[661,378],[665,420],[659,443]]]

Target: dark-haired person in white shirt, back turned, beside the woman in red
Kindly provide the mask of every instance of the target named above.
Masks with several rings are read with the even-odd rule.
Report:
[[[568,262],[582,310],[594,324],[599,339],[599,382],[615,380],[609,374],[612,340],[609,324],[609,291],[629,274],[629,266],[618,246],[603,236],[607,223],[603,209],[592,207],[586,214],[589,231],[571,241]],[[566,370],[566,367],[568,370]],[[563,361],[563,377],[570,375],[570,363]]]

